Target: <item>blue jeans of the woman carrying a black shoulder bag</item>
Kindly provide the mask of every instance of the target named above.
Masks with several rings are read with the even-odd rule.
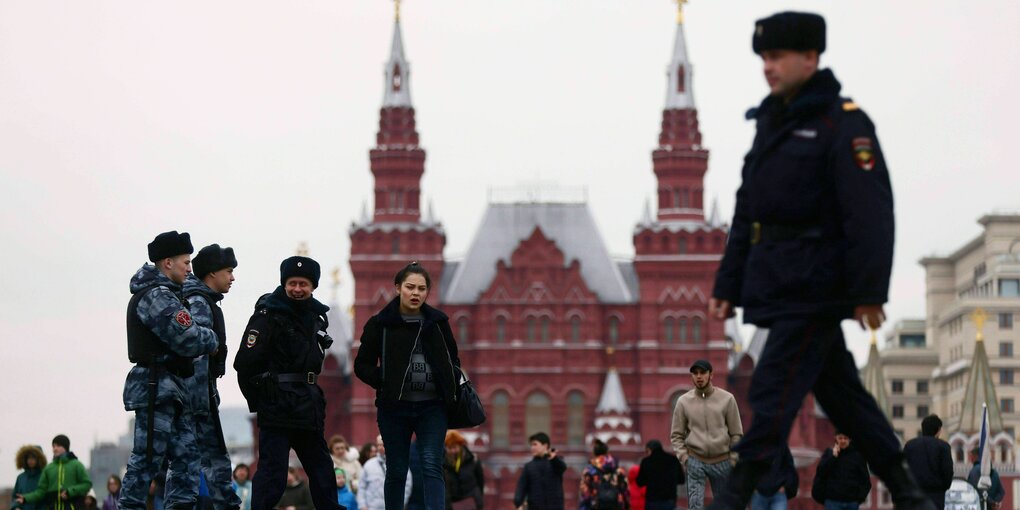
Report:
[[[411,435],[417,439],[421,459],[422,483],[427,510],[446,509],[446,405],[442,400],[425,402],[379,402],[375,421],[386,446],[387,509],[404,508],[404,484],[410,462]]]

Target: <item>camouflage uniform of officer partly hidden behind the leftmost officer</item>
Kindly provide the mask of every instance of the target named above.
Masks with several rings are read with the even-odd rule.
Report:
[[[189,274],[185,282],[185,296],[195,325],[208,327],[216,333],[219,341],[219,352],[215,356],[203,355],[195,358],[195,374],[185,379],[188,392],[191,394],[192,413],[195,415],[195,436],[198,440],[199,455],[202,457],[202,472],[209,488],[213,508],[239,508],[241,498],[231,487],[232,468],[231,456],[226,452],[223,432],[219,424],[219,393],[216,391],[216,377],[222,376],[225,370],[225,342],[214,320],[212,307],[219,305],[223,295],[209,289],[194,274]],[[219,312],[219,310],[215,310]],[[219,312],[222,317],[222,312]],[[221,322],[221,319],[220,319]]]

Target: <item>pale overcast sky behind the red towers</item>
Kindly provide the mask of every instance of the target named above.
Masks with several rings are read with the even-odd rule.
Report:
[[[753,137],[744,112],[766,94],[753,22],[784,9],[825,15],[823,64],[877,124],[898,213],[887,311],[920,317],[917,260],[978,235],[982,214],[1020,207],[1020,3],[693,1],[706,198],[727,218]],[[586,187],[610,251],[632,254],[655,188],[674,4],[402,10],[422,188],[448,256],[466,250],[490,188],[539,180]],[[128,282],[155,234],[235,248],[232,339],[301,242],[324,273],[344,269],[350,303],[347,232],[372,188],[392,31],[385,0],[0,3],[0,487],[13,484],[21,444],[48,451],[65,432],[87,457],[93,440],[126,430]],[[849,341],[866,351],[863,334]],[[223,404],[241,405],[233,372],[222,380]]]

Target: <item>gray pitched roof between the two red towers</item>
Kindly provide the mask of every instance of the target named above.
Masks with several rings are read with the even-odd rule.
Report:
[[[632,303],[620,268],[609,256],[588,204],[490,204],[467,255],[448,266],[444,303],[473,303],[496,276],[496,263],[510,255],[536,227],[563,251],[565,263],[580,262],[581,277],[603,303]],[[446,275],[444,275],[446,279]]]

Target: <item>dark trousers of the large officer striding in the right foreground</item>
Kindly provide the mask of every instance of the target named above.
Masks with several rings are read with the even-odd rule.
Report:
[[[729,484],[727,496],[750,498],[767,466],[786,448],[789,430],[809,392],[814,393],[836,429],[854,441],[878,477],[886,479],[894,466],[902,463],[900,442],[861,384],[839,321],[777,320],[769,329],[751,378],[749,401],[754,420],[733,448],[740,454],[736,471],[741,476]],[[764,468],[751,468],[752,464]],[[733,500],[727,501],[727,506],[744,508],[747,503]]]

